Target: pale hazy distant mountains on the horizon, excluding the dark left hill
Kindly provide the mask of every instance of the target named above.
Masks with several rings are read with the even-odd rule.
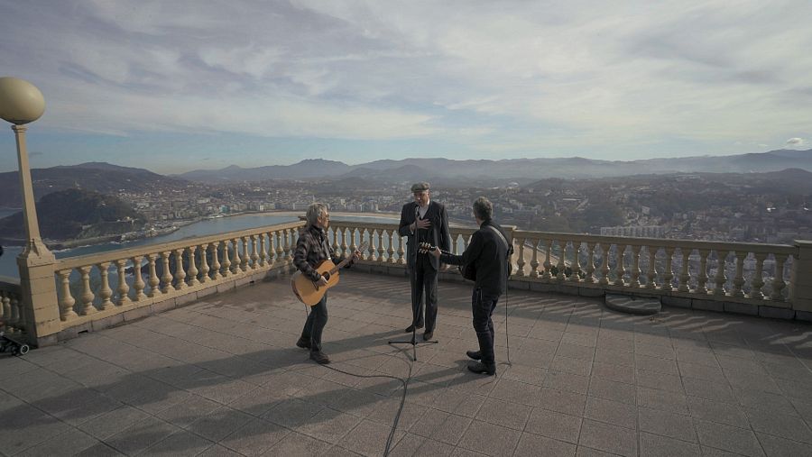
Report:
[[[812,150],[778,150],[732,156],[697,156],[646,160],[593,160],[583,157],[557,159],[374,160],[359,165],[308,159],[293,165],[225,169],[198,169],[172,178],[204,181],[263,181],[267,179],[364,178],[382,181],[426,179],[470,183],[472,179],[528,182],[539,178],[608,178],[639,174],[752,173],[806,169],[812,171]]]

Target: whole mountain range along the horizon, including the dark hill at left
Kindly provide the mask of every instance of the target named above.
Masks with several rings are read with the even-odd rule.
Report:
[[[34,196],[68,188],[82,188],[102,194],[119,190],[143,192],[151,188],[180,190],[189,181],[208,184],[299,179],[318,184],[330,181],[343,188],[380,187],[392,183],[427,180],[442,187],[500,186],[510,182],[526,185],[544,178],[616,178],[632,175],[673,173],[767,173],[785,169],[812,172],[812,150],[778,150],[733,156],[701,156],[677,159],[592,160],[564,159],[374,160],[359,165],[308,159],[293,165],[257,168],[195,170],[163,176],[146,169],[120,167],[105,162],[32,169]],[[795,182],[797,180],[794,180]],[[809,181],[805,181],[808,183]],[[803,185],[803,183],[801,184]],[[812,184],[808,184],[812,189]],[[16,171],[0,173],[0,207],[20,207],[20,181]]]

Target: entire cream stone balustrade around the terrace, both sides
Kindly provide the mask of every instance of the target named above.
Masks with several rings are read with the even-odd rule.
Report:
[[[55,260],[58,335],[51,331],[45,343],[289,273],[303,225]],[[506,229],[514,246],[511,288],[660,297],[669,306],[812,320],[812,242],[695,242]],[[452,251],[462,253],[474,232],[452,226]],[[328,236],[338,255],[366,242],[356,269],[404,276],[405,243],[396,223],[334,220]],[[442,271],[440,279],[463,280],[457,269]],[[0,283],[5,326],[14,330],[37,322],[39,329],[37,310],[25,313],[22,296],[19,286]],[[32,320],[26,321],[28,315]],[[42,342],[43,336],[49,337],[41,332],[37,338]]]

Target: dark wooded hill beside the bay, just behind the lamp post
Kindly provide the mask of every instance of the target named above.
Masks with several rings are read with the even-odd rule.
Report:
[[[145,224],[137,213],[117,197],[98,192],[66,189],[42,197],[37,202],[42,238],[73,240],[140,230]],[[0,237],[25,238],[23,213],[0,219]]]

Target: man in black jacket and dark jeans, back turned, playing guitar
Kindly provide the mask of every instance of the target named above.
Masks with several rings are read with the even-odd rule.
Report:
[[[472,361],[468,370],[488,375],[496,374],[494,356],[494,314],[496,302],[507,287],[510,274],[509,257],[512,246],[507,242],[502,227],[491,219],[494,206],[485,197],[474,202],[474,218],[479,224],[471,237],[471,243],[462,255],[447,254],[439,250],[431,251],[438,260],[450,265],[468,265],[473,262],[476,271],[471,308],[474,315],[474,330],[479,340],[479,351],[468,351]]]

